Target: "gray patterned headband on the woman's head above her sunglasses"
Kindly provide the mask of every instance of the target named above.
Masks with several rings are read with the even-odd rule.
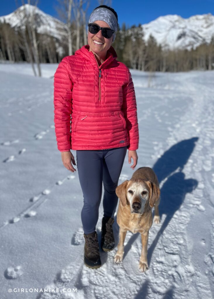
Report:
[[[113,33],[113,41],[114,41],[117,33],[117,27],[118,27],[117,18],[114,15],[114,13],[107,8],[99,7],[92,11],[89,17],[89,23],[93,23],[94,21],[98,21],[98,20],[106,22],[111,28],[111,30],[114,30]]]

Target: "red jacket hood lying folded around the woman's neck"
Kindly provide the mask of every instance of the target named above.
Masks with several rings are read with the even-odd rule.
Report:
[[[90,60],[92,62],[94,61],[95,64],[97,64],[93,52],[92,51],[89,52],[89,45],[82,46],[82,48],[80,48],[79,50],[77,50],[75,52],[75,55],[81,55],[84,57],[84,59]],[[106,63],[109,64],[116,58],[117,58],[117,54],[116,54],[114,48],[112,46],[110,46],[110,48],[108,49],[107,54],[106,54],[106,60],[102,64],[106,64]]]

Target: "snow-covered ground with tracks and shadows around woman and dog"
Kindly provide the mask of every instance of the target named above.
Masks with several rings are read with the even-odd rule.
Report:
[[[149,269],[141,273],[141,238],[132,233],[121,264],[115,248],[101,252],[101,268],[84,266],[78,171],[63,166],[54,132],[56,68],[42,65],[38,78],[30,65],[0,64],[1,299],[213,298],[214,71],[131,71],[136,169],[153,167],[161,187],[161,222],[149,232]],[[132,174],[127,154],[119,183]],[[101,204],[99,241],[102,216]],[[113,229],[117,244],[116,215]]]

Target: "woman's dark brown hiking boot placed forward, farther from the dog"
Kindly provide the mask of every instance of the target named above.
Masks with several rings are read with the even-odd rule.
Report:
[[[84,234],[84,263],[87,267],[97,269],[101,266],[97,232]]]

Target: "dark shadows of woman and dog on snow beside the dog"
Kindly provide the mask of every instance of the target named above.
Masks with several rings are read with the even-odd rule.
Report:
[[[185,179],[185,174],[182,172],[184,165],[188,161],[193,152],[195,143],[198,137],[180,141],[167,150],[154,164],[153,170],[156,173],[159,183],[166,179],[161,188],[161,200],[159,205],[160,217],[166,214],[166,218],[161,225],[161,228],[153,240],[151,246],[148,248],[148,264],[150,264],[152,253],[157,245],[160,236],[166,229],[174,213],[180,208],[186,193],[192,192],[198,181],[195,179]],[[178,170],[178,171],[177,171]],[[177,172],[175,172],[177,171]],[[115,217],[116,222],[116,217]],[[153,223],[154,225],[154,223]],[[119,242],[119,226],[115,225],[116,242]],[[131,249],[131,245],[138,238],[139,233],[133,234],[124,247],[124,257]]]

